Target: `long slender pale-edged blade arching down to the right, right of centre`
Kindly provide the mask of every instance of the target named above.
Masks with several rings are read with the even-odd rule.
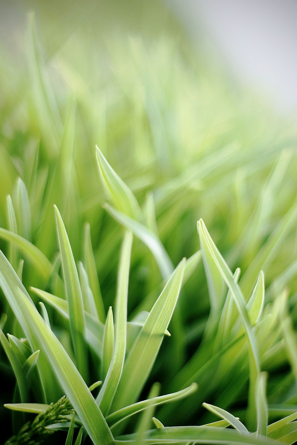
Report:
[[[197,223],[197,229],[199,233],[199,238],[203,239],[203,246],[205,246],[205,248],[207,248],[210,251],[212,258],[216,263],[216,267],[218,267],[225,283],[227,284],[228,288],[231,291],[231,295],[236,304],[247,337],[248,347],[249,347],[249,360],[250,360],[248,421],[250,428],[253,429],[256,428],[256,401],[255,401],[256,378],[260,373],[259,352],[257,348],[255,333],[252,331],[252,326],[248,318],[248,312],[245,307],[245,301],[242,291],[238,286],[238,284],[236,283],[235,279],[233,278],[232,272],[230,271],[227,263],[223,259],[215,243],[213,242],[211,236],[209,235],[202,219],[200,219],[199,222]]]

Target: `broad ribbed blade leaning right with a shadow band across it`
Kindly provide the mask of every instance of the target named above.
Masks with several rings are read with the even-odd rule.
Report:
[[[184,267],[185,259],[169,278],[130,350],[112,405],[113,411],[133,404],[142,391],[177,303]]]

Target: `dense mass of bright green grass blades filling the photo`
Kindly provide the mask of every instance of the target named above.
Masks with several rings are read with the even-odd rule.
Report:
[[[1,49],[3,439],[293,444],[296,134],[118,7]]]

